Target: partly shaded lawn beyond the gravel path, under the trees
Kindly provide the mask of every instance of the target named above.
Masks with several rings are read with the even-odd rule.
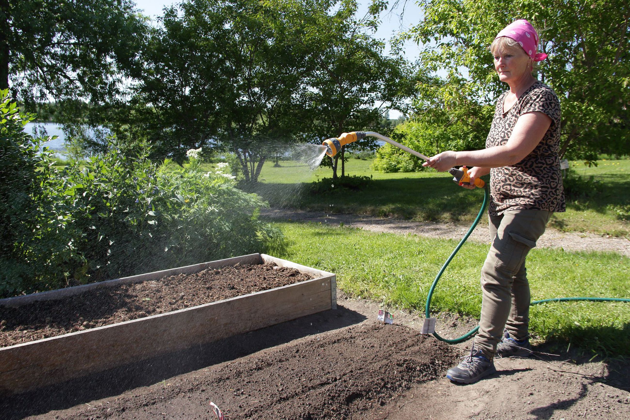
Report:
[[[346,173],[372,176],[372,184],[360,191],[339,188],[322,195],[306,195],[306,183],[331,177],[329,168],[310,171],[305,165],[281,161],[263,166],[262,183],[255,190],[273,207],[301,208],[333,213],[358,213],[402,217],[418,221],[469,223],[476,217],[483,193],[457,186],[447,173],[433,170],[420,173],[383,174],[370,169],[371,160],[350,159]],[[630,235],[630,159],[598,161],[585,167],[571,162],[585,188],[583,196],[568,200],[567,211],[556,213],[550,225],[574,232],[611,236]],[[593,176],[599,190],[586,182]],[[486,177],[487,178],[487,177]],[[482,221],[484,223],[484,221]]]

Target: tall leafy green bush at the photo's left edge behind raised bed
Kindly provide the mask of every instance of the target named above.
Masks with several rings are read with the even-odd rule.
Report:
[[[34,116],[18,112],[8,90],[0,101],[0,297],[62,287],[84,262],[70,208],[59,200],[66,182],[52,152],[40,150],[51,138],[24,132]]]

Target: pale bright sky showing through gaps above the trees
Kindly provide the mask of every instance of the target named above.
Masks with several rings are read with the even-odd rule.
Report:
[[[179,3],[180,0],[135,0],[137,8],[144,11],[144,14],[151,16],[152,19],[156,19],[157,16],[161,16],[164,7],[171,6],[171,4]],[[362,16],[367,12],[370,0],[358,0],[359,8],[358,15]],[[390,1],[390,3],[394,3]],[[401,1],[404,3],[404,0]],[[400,18],[400,14],[403,10],[401,8],[394,9],[394,11],[386,12],[381,16],[381,25],[375,33],[376,38],[383,40],[389,40],[392,35],[399,31],[408,30],[411,26],[418,23],[421,16],[420,6],[415,3],[415,0],[406,1],[403,18]],[[408,41],[404,44],[404,55],[406,59],[414,62],[418,59],[418,53],[420,48],[415,43]],[[389,118],[398,118],[401,114],[398,111],[392,110],[389,113]]]

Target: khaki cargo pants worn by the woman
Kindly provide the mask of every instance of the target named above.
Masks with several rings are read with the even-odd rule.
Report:
[[[481,268],[481,319],[475,348],[492,358],[503,329],[512,338],[527,338],[529,282],[525,257],[536,246],[553,212],[512,210],[490,216],[491,247]]]

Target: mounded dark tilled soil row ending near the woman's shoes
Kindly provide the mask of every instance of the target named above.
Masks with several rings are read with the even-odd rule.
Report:
[[[438,375],[455,349],[399,325],[370,322],[180,375],[37,418],[352,419]]]

